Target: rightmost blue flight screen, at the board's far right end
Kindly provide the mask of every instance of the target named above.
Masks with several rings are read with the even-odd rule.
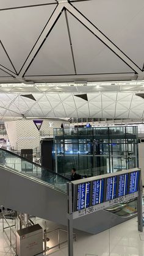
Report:
[[[130,174],[130,183],[129,183],[129,194],[134,193],[139,190],[139,170],[136,172],[131,172]]]

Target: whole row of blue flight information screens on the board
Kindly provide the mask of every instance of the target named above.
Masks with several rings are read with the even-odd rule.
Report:
[[[85,208],[90,210],[90,207],[95,209],[101,203],[108,201],[112,203],[113,199],[117,199],[117,202],[123,202],[126,197],[132,196],[132,193],[139,191],[139,180],[140,170],[135,170],[134,172],[123,171],[121,174],[114,174],[111,177],[110,174],[104,175],[104,178],[101,177],[98,180],[90,180],[88,178],[87,182],[77,183],[76,185],[73,183],[73,209],[74,211],[81,211]],[[134,196],[137,197],[137,194],[135,193]]]

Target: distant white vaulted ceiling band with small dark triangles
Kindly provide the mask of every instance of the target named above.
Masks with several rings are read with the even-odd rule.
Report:
[[[1,84],[0,119],[23,117],[144,119],[144,81]]]

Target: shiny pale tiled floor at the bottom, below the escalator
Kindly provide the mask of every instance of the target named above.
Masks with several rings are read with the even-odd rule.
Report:
[[[45,220],[35,219],[35,223],[45,226]],[[46,222],[48,232],[61,227],[54,222]],[[112,229],[89,235],[84,232],[76,232],[76,242],[74,242],[74,256],[144,256],[144,232],[137,231],[137,218],[131,219],[123,224],[117,225]],[[55,236],[53,234],[53,236]],[[47,244],[51,247],[56,243],[54,237],[49,237]],[[49,250],[51,256],[68,256],[67,244],[55,251]],[[0,255],[15,255],[10,249],[7,238],[2,232],[2,220],[0,219]]]

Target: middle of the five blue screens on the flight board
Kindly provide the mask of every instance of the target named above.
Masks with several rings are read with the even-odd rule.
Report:
[[[116,198],[117,176],[107,178],[106,201]]]

